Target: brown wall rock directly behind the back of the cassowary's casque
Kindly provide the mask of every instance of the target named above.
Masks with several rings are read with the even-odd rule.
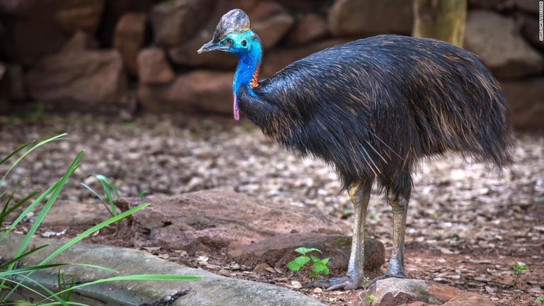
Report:
[[[259,1],[246,13],[251,20],[251,29],[261,38],[264,50],[276,45],[295,24],[295,18],[273,1]]]

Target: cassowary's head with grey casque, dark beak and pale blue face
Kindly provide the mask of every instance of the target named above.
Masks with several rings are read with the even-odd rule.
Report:
[[[222,16],[212,40],[203,45],[198,53],[217,50],[241,55],[251,52],[254,42],[259,42],[259,38],[249,29],[249,17],[235,8]]]

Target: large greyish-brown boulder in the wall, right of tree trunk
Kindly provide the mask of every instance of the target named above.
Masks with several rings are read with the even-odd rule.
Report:
[[[465,48],[479,55],[495,77],[515,79],[540,74],[544,59],[528,45],[514,20],[489,11],[469,11]]]

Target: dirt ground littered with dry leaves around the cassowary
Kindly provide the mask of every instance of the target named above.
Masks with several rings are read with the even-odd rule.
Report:
[[[251,123],[181,115],[146,115],[130,121],[91,115],[35,117],[0,117],[0,157],[32,139],[68,132],[69,140],[38,149],[11,173],[0,186],[2,190],[23,177],[27,179],[18,191],[20,196],[43,190],[62,176],[77,152],[84,149],[81,167],[61,194],[63,199],[96,203],[79,183],[96,187],[86,176],[100,173],[114,181],[122,196],[134,197],[142,191],[173,195],[230,189],[270,203],[322,210],[337,217],[346,234],[351,234],[351,203],[343,193],[336,196],[339,186],[327,166],[294,157],[268,142]],[[485,165],[455,156],[421,165],[407,221],[409,277],[480,293],[496,305],[538,305],[536,297],[544,296],[543,135],[518,133],[515,163],[502,176]],[[0,166],[0,173],[4,171],[6,166]],[[387,258],[390,213],[377,191],[368,215],[368,235],[384,242]],[[88,227],[47,229],[67,229],[67,235],[73,235]],[[110,227],[87,240],[130,247],[123,234],[130,233]],[[356,298],[353,292],[299,289],[297,282],[303,284],[309,278],[285,267],[254,271],[254,266],[229,261],[222,249],[210,254],[148,251],[225,276],[300,290],[327,305],[350,305]],[[514,285],[512,266],[516,263],[530,270],[523,271]]]

